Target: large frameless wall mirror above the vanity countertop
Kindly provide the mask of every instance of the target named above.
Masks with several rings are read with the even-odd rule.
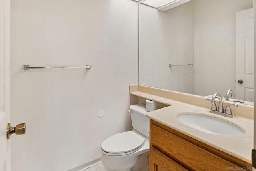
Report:
[[[253,105],[252,0],[151,2],[139,4],[139,83],[202,96],[232,89]]]

